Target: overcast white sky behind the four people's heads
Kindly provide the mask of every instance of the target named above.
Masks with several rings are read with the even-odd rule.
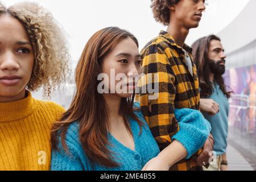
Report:
[[[9,6],[21,0],[0,0]],[[101,28],[118,26],[133,33],[140,48],[166,27],[156,23],[150,0],[34,0],[52,12],[68,34],[73,65],[79,59],[87,40]],[[200,27],[191,30],[186,42],[217,34],[242,11],[249,0],[208,0]]]

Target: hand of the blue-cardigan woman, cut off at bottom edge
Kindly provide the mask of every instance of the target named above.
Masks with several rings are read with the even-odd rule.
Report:
[[[170,167],[166,161],[156,156],[147,162],[142,171],[169,171]]]

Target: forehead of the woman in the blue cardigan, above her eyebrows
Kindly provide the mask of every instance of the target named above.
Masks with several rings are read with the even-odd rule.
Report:
[[[132,56],[137,56],[139,55],[139,50],[137,47],[137,44],[134,42],[133,39],[131,38],[126,38],[121,40],[113,49],[112,49],[112,54],[117,55],[118,53],[123,52],[123,53],[129,53]]]

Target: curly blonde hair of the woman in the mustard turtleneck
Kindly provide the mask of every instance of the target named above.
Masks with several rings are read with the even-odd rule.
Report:
[[[0,2],[0,16],[9,14],[18,19],[27,31],[34,51],[34,67],[26,89],[43,88],[43,96],[59,89],[69,78],[69,49],[64,31],[52,14],[34,2],[16,3],[6,8]]]

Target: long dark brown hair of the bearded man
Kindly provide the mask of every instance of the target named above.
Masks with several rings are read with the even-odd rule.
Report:
[[[195,60],[197,75],[199,77],[201,97],[209,97],[213,92],[213,86],[210,82],[210,61],[208,57],[210,42],[212,40],[221,41],[217,36],[209,35],[196,40],[196,42],[192,44],[192,55]],[[226,95],[226,97],[230,98],[230,94],[232,92],[228,92],[226,90],[224,78],[221,75],[214,74],[214,80],[220,86],[221,91]]]

